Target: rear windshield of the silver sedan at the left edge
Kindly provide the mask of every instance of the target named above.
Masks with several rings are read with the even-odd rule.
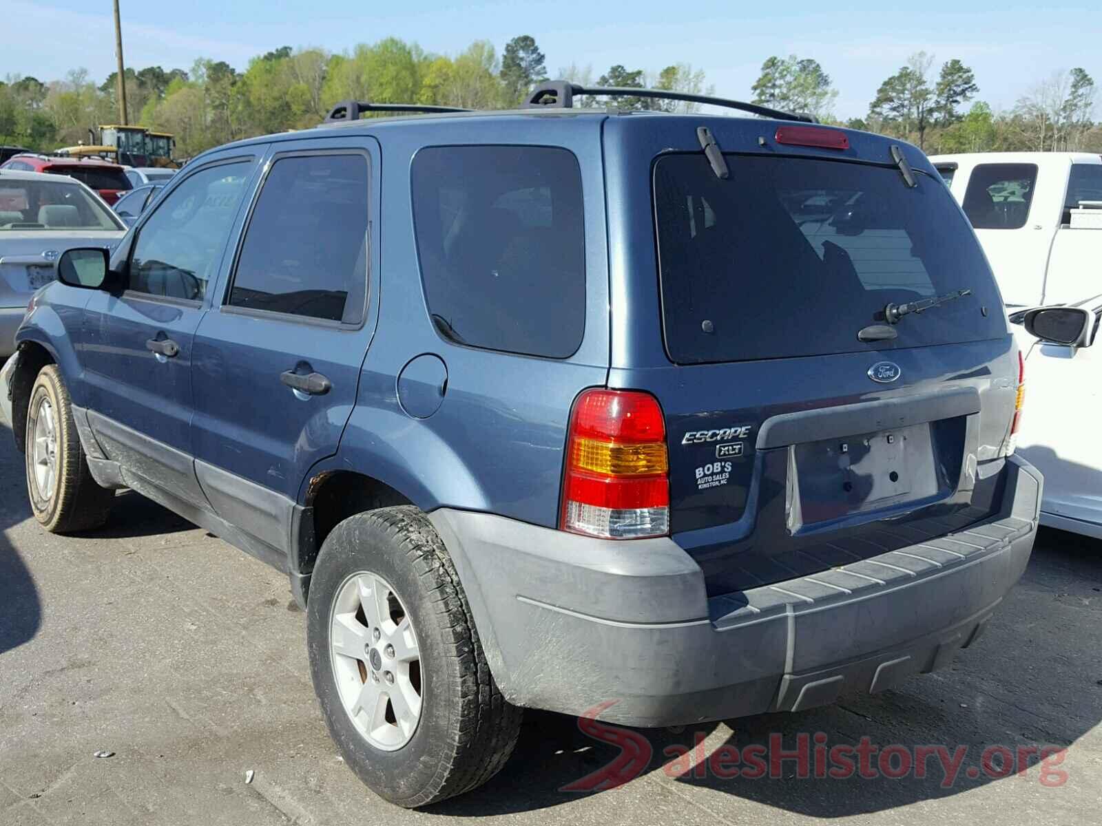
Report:
[[[75,184],[0,180],[0,232],[35,229],[117,232],[126,227]]]

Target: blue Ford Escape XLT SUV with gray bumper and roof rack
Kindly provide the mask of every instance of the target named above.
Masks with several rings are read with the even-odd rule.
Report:
[[[65,253],[0,373],[46,530],[126,487],[289,574],[329,731],[403,806],[490,778],[522,707],[943,667],[1031,550],[1020,360],[925,155],[573,106],[609,91],[212,150]]]

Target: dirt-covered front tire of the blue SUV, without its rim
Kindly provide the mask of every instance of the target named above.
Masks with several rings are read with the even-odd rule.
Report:
[[[39,413],[46,401],[55,428],[55,481],[43,496],[34,474],[34,442]],[[80,437],[73,421],[68,391],[56,365],[46,365],[31,388],[26,411],[26,441],[23,446],[26,493],[34,518],[51,533],[69,533],[100,528],[110,513],[115,491],[99,487],[91,478]]]

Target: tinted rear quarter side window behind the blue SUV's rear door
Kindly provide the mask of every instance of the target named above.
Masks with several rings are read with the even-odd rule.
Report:
[[[582,175],[548,146],[435,146],[413,159],[425,298],[445,338],[566,358],[585,326]]]

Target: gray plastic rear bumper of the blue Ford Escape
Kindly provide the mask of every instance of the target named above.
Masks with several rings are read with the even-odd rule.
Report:
[[[440,510],[510,702],[667,726],[800,710],[943,667],[1022,576],[1041,477],[1006,463],[1000,518],[880,556],[707,599],[671,540],[607,542]]]

